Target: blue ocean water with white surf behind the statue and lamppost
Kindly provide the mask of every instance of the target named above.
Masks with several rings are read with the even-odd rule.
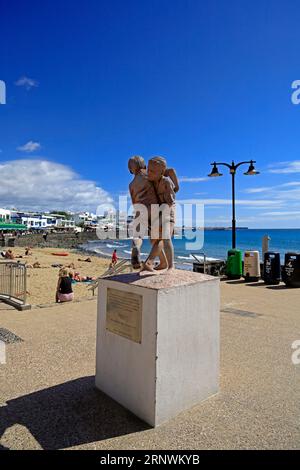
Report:
[[[197,231],[197,239],[203,244],[191,249],[187,243],[191,243],[192,237],[196,239],[195,232],[189,230],[185,232],[185,237],[174,238],[175,262],[177,267],[191,267],[194,258],[192,253],[205,253],[207,257],[226,259],[227,251],[231,248],[230,230],[205,230]],[[237,230],[237,248],[245,250],[258,250],[261,255],[262,238],[270,237],[269,250],[279,252],[281,262],[284,261],[284,254],[300,252],[300,229],[242,229]],[[131,240],[96,240],[82,245],[81,248],[89,253],[99,256],[111,256],[114,249],[117,249],[119,258],[130,258]],[[149,240],[144,240],[142,245],[142,259],[145,259],[150,251]]]

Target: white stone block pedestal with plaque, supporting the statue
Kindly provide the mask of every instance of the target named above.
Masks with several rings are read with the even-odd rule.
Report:
[[[182,270],[100,280],[96,387],[151,426],[217,393],[219,288]]]

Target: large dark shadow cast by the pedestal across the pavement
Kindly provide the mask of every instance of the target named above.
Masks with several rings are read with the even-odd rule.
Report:
[[[0,439],[20,424],[43,449],[63,449],[150,429],[94,383],[94,376],[81,377],[9,400],[0,407]]]

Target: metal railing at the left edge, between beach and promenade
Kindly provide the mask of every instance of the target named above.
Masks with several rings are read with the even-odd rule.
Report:
[[[27,270],[25,264],[0,262],[0,298],[26,304]]]

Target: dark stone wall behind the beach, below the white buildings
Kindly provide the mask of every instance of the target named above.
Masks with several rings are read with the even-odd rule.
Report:
[[[16,237],[14,244],[9,243],[6,239],[6,246],[20,246],[32,248],[35,247],[49,247],[49,248],[76,248],[78,245],[86,243],[88,240],[97,240],[95,232],[82,232],[82,233],[48,233],[47,241],[43,239],[42,233],[34,233]],[[10,237],[11,240],[11,237]]]

